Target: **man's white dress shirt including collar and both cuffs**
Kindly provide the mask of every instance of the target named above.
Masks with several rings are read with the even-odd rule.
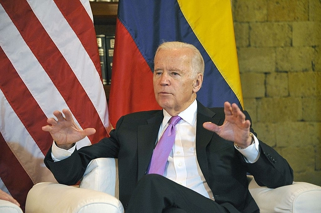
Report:
[[[171,118],[171,115],[166,110],[163,110],[163,113],[164,119],[161,127],[159,127],[158,139],[161,138],[163,132],[169,125],[168,122]],[[196,115],[196,100],[194,100],[187,109],[179,113],[182,120],[176,124],[175,144],[166,164],[164,176],[197,191],[205,197],[214,199],[213,193],[204,178],[196,157]],[[255,162],[260,155],[259,142],[255,136],[254,141],[254,144],[245,149],[237,149],[235,147],[243,154],[244,159],[249,163]],[[73,146],[68,150],[61,149],[54,142],[51,156],[54,161],[63,160],[69,157],[74,152],[75,148],[76,146]]]

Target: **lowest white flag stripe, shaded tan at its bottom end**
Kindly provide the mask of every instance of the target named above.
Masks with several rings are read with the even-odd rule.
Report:
[[[0,132],[32,181],[34,183],[55,182],[55,178],[43,162],[44,154],[9,104],[2,90],[0,90],[0,105],[3,108]],[[8,120],[10,122],[7,122]]]

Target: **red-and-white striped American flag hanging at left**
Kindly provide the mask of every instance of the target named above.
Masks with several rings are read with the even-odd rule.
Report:
[[[100,72],[88,0],[0,0],[0,188],[23,208],[35,183],[55,181],[41,129],[54,110],[96,128],[78,148],[108,134]]]

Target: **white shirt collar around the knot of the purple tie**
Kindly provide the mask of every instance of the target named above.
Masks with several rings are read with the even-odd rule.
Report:
[[[193,103],[189,105],[189,107],[187,107],[184,111],[180,112],[178,115],[182,117],[182,119],[188,122],[189,124],[194,125],[196,121],[196,112],[197,112],[197,101],[195,99]],[[167,125],[167,123],[172,117],[165,109],[163,109],[163,114],[164,114],[164,118],[162,122],[162,128],[164,128]]]

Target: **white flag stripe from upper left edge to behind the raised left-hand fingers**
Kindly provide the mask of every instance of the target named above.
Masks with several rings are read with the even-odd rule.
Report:
[[[0,19],[0,45],[46,116],[53,117],[52,112],[57,110],[57,105],[60,109],[69,108],[1,4]],[[77,119],[74,119],[80,126]],[[77,148],[89,144],[89,138],[85,137],[77,142]]]

